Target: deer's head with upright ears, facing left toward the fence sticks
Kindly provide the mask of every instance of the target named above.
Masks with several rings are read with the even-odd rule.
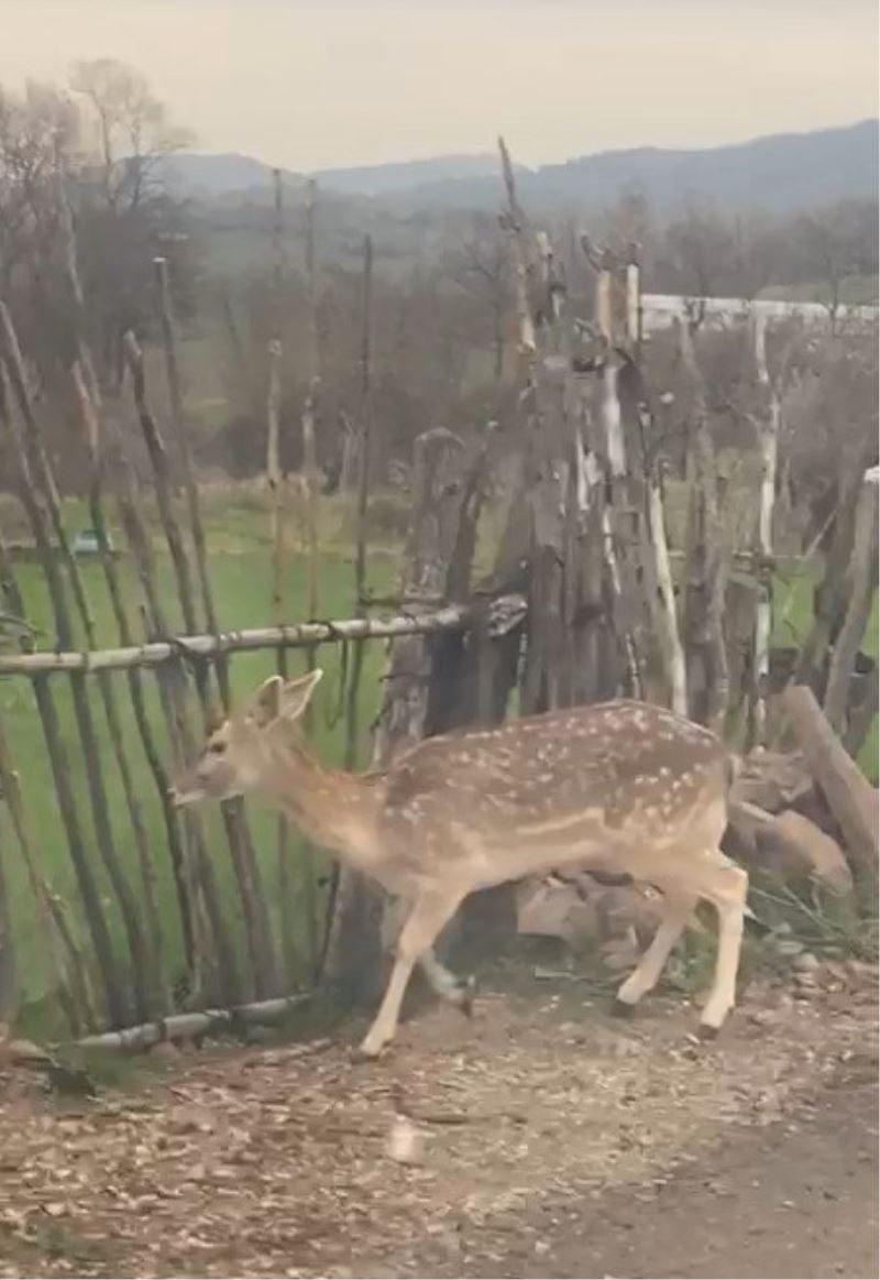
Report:
[[[266,680],[240,712],[208,733],[198,759],[175,780],[174,804],[183,808],[203,800],[232,800],[257,787],[271,763],[267,730],[280,719],[297,721],[321,676],[316,668],[299,680]]]

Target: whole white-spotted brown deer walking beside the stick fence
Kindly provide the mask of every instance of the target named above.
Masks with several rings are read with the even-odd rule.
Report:
[[[700,1032],[720,1030],[751,913],[747,873],[720,849],[735,763],[715,733],[664,707],[617,699],[427,737],[388,768],[356,774],[325,768],[298,727],[321,675],[265,681],[207,735],[173,800],[253,792],[398,899],[394,964],[358,1057],[375,1059],[394,1039],[417,965],[439,996],[468,1011],[469,986],[434,945],[469,893],[567,867],[623,873],[663,895],[656,934],[617,992],[620,1010],[656,986],[697,904],[711,904],[718,954]]]

